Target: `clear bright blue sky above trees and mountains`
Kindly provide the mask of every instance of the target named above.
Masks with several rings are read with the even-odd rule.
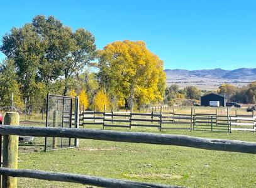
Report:
[[[165,68],[256,68],[255,10],[256,1],[247,0],[2,0],[0,36],[45,14],[74,30],[88,29],[98,49],[118,40],[145,41]]]

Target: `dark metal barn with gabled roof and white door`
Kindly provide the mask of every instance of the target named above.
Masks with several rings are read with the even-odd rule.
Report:
[[[216,103],[220,107],[226,107],[226,97],[217,93],[210,93],[201,97],[201,106],[208,107],[211,106],[210,103]]]

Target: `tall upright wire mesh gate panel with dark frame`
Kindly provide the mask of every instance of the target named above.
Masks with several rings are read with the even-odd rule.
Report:
[[[46,127],[78,128],[77,120],[78,98],[48,94]],[[76,138],[45,138],[45,151],[65,149],[76,145]]]

